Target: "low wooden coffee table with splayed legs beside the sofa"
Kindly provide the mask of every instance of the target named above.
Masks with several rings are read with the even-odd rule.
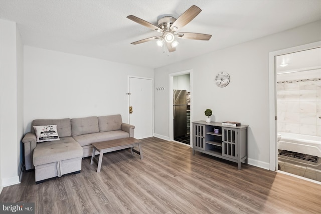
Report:
[[[99,151],[97,172],[100,172],[102,156],[104,153],[107,153],[107,152],[130,148],[131,154],[133,154],[133,152],[135,152],[135,153],[139,154],[140,159],[142,159],[142,151],[141,151],[141,147],[140,147],[139,143],[141,143],[141,141],[138,139],[135,139],[133,137],[127,137],[127,138],[121,138],[121,139],[116,139],[116,140],[108,140],[108,141],[102,141],[102,142],[98,142],[98,143],[92,143],[94,148],[92,150],[90,165],[93,164],[94,161],[97,162],[97,159],[95,158],[96,150]],[[139,151],[135,150],[133,148],[134,146],[138,146]]]

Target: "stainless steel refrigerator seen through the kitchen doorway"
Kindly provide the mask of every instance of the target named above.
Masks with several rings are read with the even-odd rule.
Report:
[[[174,90],[174,139],[187,134],[186,90]]]

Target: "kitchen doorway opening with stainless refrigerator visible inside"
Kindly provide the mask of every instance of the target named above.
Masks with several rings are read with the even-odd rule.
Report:
[[[191,146],[191,71],[170,74],[170,138]]]

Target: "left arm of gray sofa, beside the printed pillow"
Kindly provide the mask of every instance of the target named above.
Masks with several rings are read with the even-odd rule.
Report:
[[[32,160],[32,156],[34,153],[34,149],[36,148],[36,134],[28,132],[25,137],[22,139],[22,142],[25,146],[25,166],[26,170],[33,169],[34,163]]]

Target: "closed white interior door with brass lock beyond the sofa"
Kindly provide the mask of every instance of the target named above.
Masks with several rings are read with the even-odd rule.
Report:
[[[129,124],[135,126],[135,138],[153,136],[152,80],[129,77]]]

